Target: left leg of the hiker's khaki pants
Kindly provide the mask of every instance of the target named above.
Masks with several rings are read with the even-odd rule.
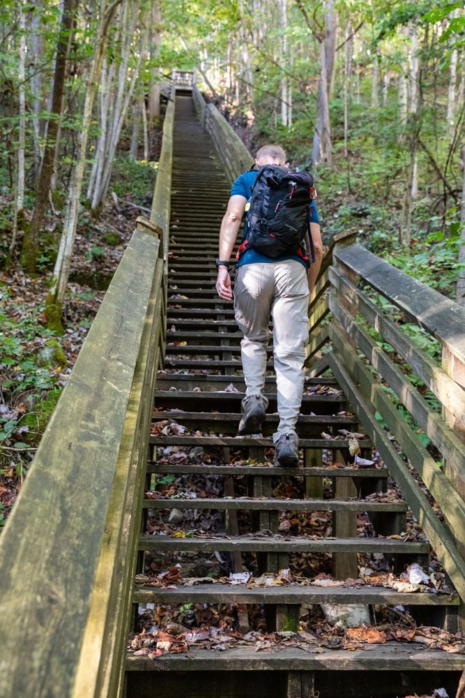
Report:
[[[259,395],[264,407],[266,346],[268,323],[273,302],[273,264],[248,264],[239,267],[234,284],[236,322],[244,335],[241,358],[245,379],[245,399]]]

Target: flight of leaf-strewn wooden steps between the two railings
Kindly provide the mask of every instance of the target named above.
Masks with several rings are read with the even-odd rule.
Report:
[[[327,364],[321,364],[324,377],[305,380],[298,422],[298,469],[272,465],[271,434],[278,419],[272,347],[264,433],[257,438],[236,436],[245,390],[241,334],[231,304],[219,299],[214,288],[218,231],[229,186],[213,142],[195,116],[190,91],[177,90],[175,114],[167,344],[165,364],[157,378],[153,420],[184,429],[176,435],[169,435],[167,429],[167,436],[154,433],[150,438],[153,451],[146,471],[139,584],[133,596],[135,612],[125,695],[245,697],[253,691],[259,698],[387,698],[445,687],[452,697],[459,672],[464,669],[463,655],[392,639],[350,650],[319,646],[308,637],[311,624],[299,619],[302,607],[312,604],[363,604],[371,607],[372,618],[375,607],[402,605],[417,625],[436,625],[455,632],[459,601],[453,593],[401,593],[355,581],[361,561],[367,564],[376,559],[383,569],[398,574],[413,562],[427,565],[430,548],[424,540],[406,540],[409,507],[405,501],[382,496],[388,487],[395,487],[389,480],[389,463],[387,469],[375,464],[365,468],[353,465],[350,434],[365,430],[335,378],[324,370]],[[340,430],[345,434],[341,435]],[[358,437],[358,441],[360,455],[369,459],[369,438]],[[199,474],[221,478],[222,496],[183,496],[188,478]],[[176,477],[177,487],[169,496],[158,484],[167,475]],[[285,482],[291,483],[294,496],[280,495]],[[224,512],[223,523],[213,532],[192,533],[191,519],[176,525],[168,523],[173,510],[181,514],[195,510],[199,516],[204,510]],[[154,533],[148,524],[160,512],[165,526],[158,526]],[[323,512],[326,516],[330,512],[331,535],[283,532],[281,512]],[[365,533],[360,521],[369,524]],[[305,581],[304,572],[302,577],[294,574],[289,584],[266,587],[206,581],[183,586],[182,579],[166,587],[144,585],[144,579],[151,579],[150,563],[158,571],[176,562],[182,569],[193,556],[199,560],[213,558],[213,569],[218,574],[242,572],[249,565],[256,577],[278,574],[289,567],[305,570],[305,564],[297,562],[302,558],[313,560],[314,567],[321,563],[321,571],[328,571],[330,566],[335,580],[351,578],[353,582],[346,586],[312,586]],[[234,646],[229,648],[226,643],[222,651],[215,649],[213,642],[208,649],[204,642],[190,645],[187,652],[158,648],[157,653],[150,632],[142,639],[140,635],[139,613],[146,611],[146,604],[228,604],[238,613],[238,625],[243,627],[234,629]],[[241,633],[242,637],[250,634],[247,608],[251,604],[264,604],[264,634],[277,633],[270,646],[259,651],[256,636],[242,644],[240,639]],[[299,629],[304,638],[301,646],[296,641]],[[200,637],[201,630],[192,628],[192,635],[198,632]],[[144,646],[151,654],[135,653]]]

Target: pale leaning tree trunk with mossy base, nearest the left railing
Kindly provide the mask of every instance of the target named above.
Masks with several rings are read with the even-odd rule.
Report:
[[[57,331],[62,331],[61,309],[63,307],[66,285],[68,284],[68,276],[71,267],[71,258],[73,255],[77,215],[79,213],[79,199],[82,190],[82,177],[84,175],[84,166],[86,163],[87,140],[89,138],[89,128],[92,120],[93,101],[96,96],[98,81],[102,70],[102,60],[107,46],[109,26],[112,22],[114,11],[122,1],[123,0],[113,0],[112,3],[108,5],[107,0],[100,0],[100,17],[96,44],[86,84],[82,127],[79,134],[79,152],[71,176],[66,218],[63,225],[58,256],[56,258],[52,285],[45,303],[47,327],[56,329]]]

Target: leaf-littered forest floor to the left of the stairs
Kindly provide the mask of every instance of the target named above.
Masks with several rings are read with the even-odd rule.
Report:
[[[6,522],[45,426],[66,385],[109,282],[123,256],[139,215],[150,211],[155,170],[117,158],[111,191],[98,218],[79,214],[73,265],[63,313],[63,336],[45,327],[44,306],[62,216],[49,216],[49,240],[36,278],[17,260],[0,270],[0,526]],[[0,195],[0,210],[11,207]],[[144,210],[146,209],[146,210]],[[26,213],[29,215],[30,211]],[[56,235],[56,237],[54,237]],[[10,228],[0,230],[8,246]],[[50,242],[50,238],[52,238]],[[20,246],[18,242],[18,249]]]

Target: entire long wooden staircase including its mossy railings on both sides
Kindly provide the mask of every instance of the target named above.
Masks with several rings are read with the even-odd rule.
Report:
[[[374,609],[402,606],[417,627],[434,626],[449,639],[463,627],[465,313],[350,235],[335,239],[309,308],[300,465],[275,468],[273,348],[264,433],[240,438],[241,337],[231,304],[214,288],[229,184],[251,158],[195,87],[178,87],[172,98],[151,220],[139,219],[0,539],[0,698],[242,698],[251,692],[257,698],[390,698],[440,687],[452,698],[465,669],[463,653],[393,639],[332,648],[330,641],[312,641],[299,614],[320,604],[349,604],[369,607],[374,618]],[[441,342],[441,366],[367,288]],[[402,360],[416,383],[400,370]],[[150,422],[168,428],[148,438]],[[174,423],[184,429],[170,429]],[[383,467],[354,463],[352,433],[363,434],[360,456],[370,459],[376,447]],[[176,477],[178,489],[164,496],[160,480],[167,475]],[[214,477],[220,494],[179,496],[192,475],[206,482]],[[291,483],[292,497],[282,494],[283,483]],[[386,496],[388,487],[397,496]],[[218,530],[185,535],[206,510],[219,512]],[[173,512],[176,525],[169,523]],[[281,512],[321,512],[330,519],[330,535],[280,530]],[[406,535],[412,516],[423,536],[413,535],[414,527]],[[394,574],[411,563],[426,567],[432,550],[452,593],[296,579],[272,586],[144,584],[154,577],[151,563],[167,570],[174,562],[189,569],[223,565],[224,574],[250,567],[255,577],[309,565],[310,579],[321,564],[342,581],[357,579],[360,564],[370,560]],[[275,641],[264,640],[257,651],[256,636],[240,640],[241,632],[247,635],[243,627],[228,629],[235,642],[225,639],[215,648],[212,640],[208,648],[200,635],[194,644],[199,629],[191,628],[188,651],[173,652],[174,632],[159,646],[156,635],[140,635],[139,614],[153,609],[156,624],[155,611],[162,617],[165,604],[229,604],[234,613],[239,609],[242,626],[249,623],[247,608],[258,604]],[[187,642],[184,636],[178,642]]]

